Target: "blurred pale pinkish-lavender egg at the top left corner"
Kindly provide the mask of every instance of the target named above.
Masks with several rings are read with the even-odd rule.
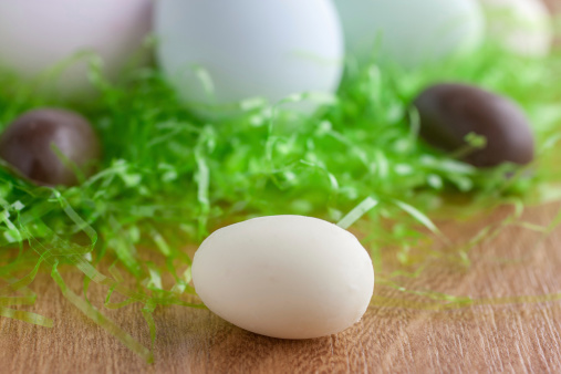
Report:
[[[152,24],[150,0],[0,1],[0,66],[34,77],[80,52],[94,52],[116,75]],[[60,76],[67,94],[91,90],[87,63],[69,62]]]

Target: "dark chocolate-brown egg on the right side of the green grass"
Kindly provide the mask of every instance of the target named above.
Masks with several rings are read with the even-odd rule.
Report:
[[[511,100],[465,84],[437,84],[414,101],[420,137],[475,166],[490,167],[533,159],[534,141],[523,111]],[[469,147],[466,136],[486,138],[482,148]]]

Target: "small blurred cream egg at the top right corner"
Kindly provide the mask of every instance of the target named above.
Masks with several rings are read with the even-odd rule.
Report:
[[[540,0],[480,0],[488,34],[503,48],[528,56],[544,56],[553,42],[550,13]]]

